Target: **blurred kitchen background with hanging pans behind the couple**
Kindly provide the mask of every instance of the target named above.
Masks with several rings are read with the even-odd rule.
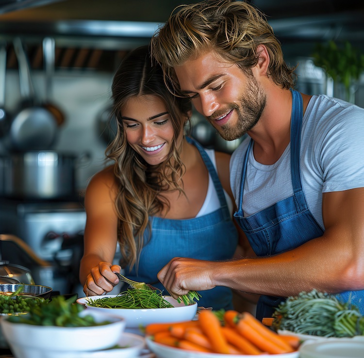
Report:
[[[38,267],[35,253],[49,263],[36,283],[82,294],[82,192],[104,166],[113,135],[113,74],[128,51],[149,43],[175,6],[193,2],[0,0],[0,234],[6,234],[0,235],[0,259]],[[297,89],[342,96],[312,54],[330,40],[364,53],[364,2],[249,2],[267,15],[286,62],[299,63]],[[363,74],[351,100],[364,107]],[[239,144],[221,140],[197,113],[193,123],[205,146],[232,152]]]

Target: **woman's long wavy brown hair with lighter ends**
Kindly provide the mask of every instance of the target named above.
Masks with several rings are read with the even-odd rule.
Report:
[[[146,163],[128,144],[121,120],[128,100],[143,95],[154,95],[164,101],[174,131],[167,159],[154,166]],[[123,261],[131,269],[134,264],[138,267],[144,234],[149,230],[149,216],[169,206],[162,192],[179,190],[183,193],[185,168],[176,139],[190,116],[191,103],[187,99],[176,98],[168,91],[162,68],[152,64],[148,46],[133,50],[123,59],[113,78],[112,99],[117,130],[115,139],[106,148],[106,157],[115,163],[118,241]]]

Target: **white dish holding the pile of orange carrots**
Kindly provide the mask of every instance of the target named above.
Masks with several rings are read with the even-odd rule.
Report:
[[[158,358],[252,358],[252,355],[236,355],[236,354],[218,354],[218,353],[201,353],[187,351],[180,348],[169,347],[164,344],[156,343],[150,337],[146,339],[148,348],[155,353]],[[298,358],[299,352],[285,353],[285,354],[261,354],[259,358]],[[363,357],[362,357],[363,358]]]

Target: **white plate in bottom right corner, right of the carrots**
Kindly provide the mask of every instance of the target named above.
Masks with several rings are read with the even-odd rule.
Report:
[[[327,341],[307,341],[299,348],[300,358],[363,358],[364,341],[337,338]]]

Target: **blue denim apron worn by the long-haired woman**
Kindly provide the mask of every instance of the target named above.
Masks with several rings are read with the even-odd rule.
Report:
[[[188,257],[199,260],[229,260],[232,258],[238,235],[228,209],[226,198],[215,167],[205,150],[191,138],[187,138],[199,149],[201,157],[212,177],[220,201],[220,209],[193,219],[173,220],[150,217],[151,237],[145,235],[139,267],[135,266],[125,275],[136,281],[152,284],[165,290],[158,281],[157,273],[174,257]],[[167,294],[166,290],[165,293]],[[200,291],[199,306],[214,309],[232,309],[232,291],[228,287],[215,287]]]

